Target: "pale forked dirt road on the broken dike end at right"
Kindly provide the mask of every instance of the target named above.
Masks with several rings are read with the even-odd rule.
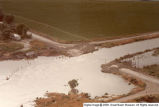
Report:
[[[142,72],[137,71],[136,68],[132,68],[131,66],[127,66],[127,65],[125,65],[123,63],[119,63],[117,61],[113,61],[113,62],[109,63],[108,65],[105,64],[103,66],[105,66],[105,69],[108,72],[112,72],[112,71],[109,71],[108,68],[107,68],[107,67],[110,67],[111,65],[117,65],[118,66],[115,73],[117,72],[117,74],[128,75],[128,77],[131,77],[131,78],[134,78],[134,79],[137,79],[137,80],[141,80],[142,82],[145,83],[145,89],[144,90],[140,90],[138,92],[136,91],[137,93],[129,94],[128,96],[124,96],[124,97],[121,97],[119,99],[112,100],[111,102],[115,102],[115,103],[116,102],[126,102],[128,100],[131,101],[132,99],[136,99],[136,98],[141,97],[141,96],[159,94],[159,85],[158,85],[159,80],[158,79],[156,79],[156,78],[154,78],[150,75],[145,75]],[[126,68],[127,70],[130,70],[130,71],[121,70],[123,68]],[[111,70],[113,70],[113,69],[111,69]],[[114,72],[114,70],[113,70],[113,72]],[[138,83],[138,82],[135,82],[135,83]]]

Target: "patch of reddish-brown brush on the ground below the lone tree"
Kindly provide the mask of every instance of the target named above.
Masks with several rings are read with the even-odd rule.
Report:
[[[90,99],[88,94],[65,95],[59,93],[49,93],[47,98],[37,98],[35,107],[82,107],[85,102],[101,102]]]

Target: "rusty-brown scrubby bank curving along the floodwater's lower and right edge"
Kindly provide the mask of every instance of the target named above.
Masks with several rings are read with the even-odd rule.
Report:
[[[102,72],[108,73],[105,70],[106,70],[105,67],[102,66]],[[116,71],[116,69],[113,69],[113,71]],[[115,72],[113,73],[117,75],[121,75],[121,73],[120,74]],[[68,95],[61,94],[61,93],[47,93],[46,94],[47,98],[37,98],[35,100],[35,103],[36,103],[35,107],[82,107],[83,103],[86,103],[86,102],[87,103],[88,102],[96,102],[96,103],[105,102],[106,103],[106,102],[114,101],[116,99],[120,99],[129,95],[135,94],[137,92],[143,91],[146,86],[140,79],[133,78],[126,74],[122,74],[122,77],[126,81],[129,81],[129,84],[136,85],[136,88],[134,88],[130,93],[126,95],[108,98],[109,95],[106,94],[102,97],[95,97],[94,99],[90,99],[88,94],[86,93],[68,94]]]

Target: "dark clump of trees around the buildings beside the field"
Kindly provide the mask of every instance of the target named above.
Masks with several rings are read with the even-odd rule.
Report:
[[[31,38],[27,32],[29,28],[24,24],[15,24],[15,17],[11,14],[4,14],[0,9],[0,35],[1,39],[13,39],[13,34],[18,34],[22,39]]]

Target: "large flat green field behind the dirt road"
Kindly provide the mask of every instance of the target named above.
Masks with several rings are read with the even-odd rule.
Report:
[[[19,23],[56,40],[79,41],[159,30],[159,2],[0,0]]]

